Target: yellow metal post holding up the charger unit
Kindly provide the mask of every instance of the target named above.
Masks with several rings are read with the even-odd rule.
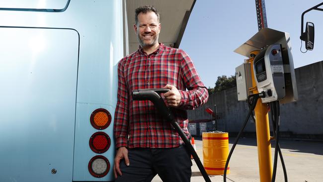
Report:
[[[253,94],[258,93],[253,70],[253,60],[260,51],[251,51],[251,58],[246,62],[251,66],[251,79]],[[272,177],[272,162],[271,162],[271,144],[270,144],[270,130],[268,119],[268,106],[266,103],[262,103],[261,99],[257,100],[257,105],[254,108],[254,115],[256,119],[256,135],[257,135],[257,147],[258,147],[258,164],[259,164],[259,176],[260,182],[270,182]]]

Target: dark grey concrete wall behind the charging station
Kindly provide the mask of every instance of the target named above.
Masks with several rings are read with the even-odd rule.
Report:
[[[295,69],[299,100],[280,106],[280,131],[287,137],[323,139],[323,61]],[[238,101],[237,88],[217,92],[208,102],[188,111],[190,120],[209,119],[206,108],[214,110],[217,105],[218,130],[239,132],[248,112],[245,101]],[[212,123],[208,123],[212,130]],[[245,132],[255,132],[250,119]]]

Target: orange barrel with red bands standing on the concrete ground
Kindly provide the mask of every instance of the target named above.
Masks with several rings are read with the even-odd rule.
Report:
[[[229,155],[228,133],[202,133],[203,166],[208,175],[223,175]],[[227,174],[230,174],[228,165]]]

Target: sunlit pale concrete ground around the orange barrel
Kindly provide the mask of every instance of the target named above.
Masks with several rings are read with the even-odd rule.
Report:
[[[235,138],[229,139],[229,150]],[[201,138],[195,138],[197,154],[203,163]],[[272,158],[274,144],[272,143]],[[323,142],[280,140],[289,182],[323,182]],[[227,182],[259,182],[258,155],[255,138],[241,138],[230,160]],[[204,182],[194,160],[191,182]],[[210,176],[212,182],[223,182],[223,176]],[[162,182],[156,176],[152,182]],[[276,182],[284,182],[280,160]]]

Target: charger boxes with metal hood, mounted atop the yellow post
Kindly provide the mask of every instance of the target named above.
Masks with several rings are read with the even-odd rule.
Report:
[[[248,58],[254,57],[253,65],[243,63],[236,68],[238,100],[246,100],[251,91],[264,92],[262,102],[280,100],[288,103],[298,99],[294,63],[289,33],[262,28],[235,50]],[[252,51],[260,51],[257,55]],[[248,65],[248,66],[246,66]],[[252,67],[249,69],[249,65]],[[254,75],[256,88],[250,82]]]

